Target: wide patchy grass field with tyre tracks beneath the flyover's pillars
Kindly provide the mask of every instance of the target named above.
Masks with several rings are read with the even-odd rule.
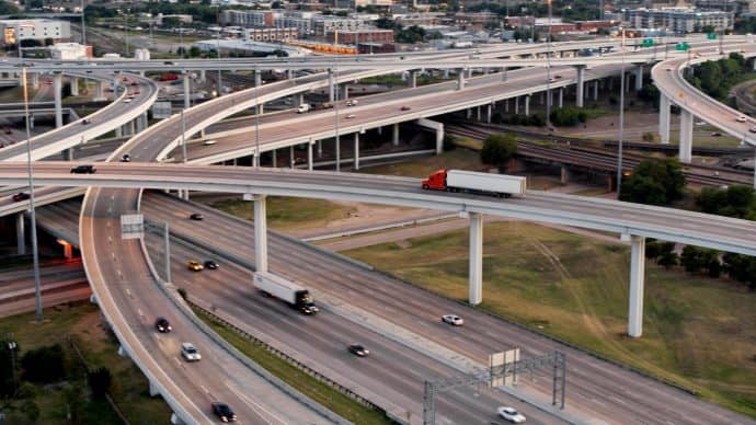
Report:
[[[480,308],[756,417],[756,295],[744,286],[646,263],[644,334],[629,338],[628,246],[527,222],[484,236]],[[467,300],[467,231],[343,254]]]

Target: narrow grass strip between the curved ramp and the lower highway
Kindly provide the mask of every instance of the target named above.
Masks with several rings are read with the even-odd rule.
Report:
[[[391,424],[380,412],[366,407],[348,397],[342,394],[328,384],[305,374],[294,365],[265,349],[261,344],[247,340],[237,332],[228,329],[222,323],[195,310],[214,331],[228,341],[241,353],[265,368],[271,374],[280,378],[284,382],[296,388],[302,394],[317,401],[321,405],[341,415],[355,424]]]

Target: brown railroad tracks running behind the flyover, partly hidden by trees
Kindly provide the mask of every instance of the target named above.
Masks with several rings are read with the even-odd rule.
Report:
[[[502,133],[500,128],[480,127],[470,124],[447,125],[448,134],[483,140],[492,134]],[[612,175],[617,172],[617,154],[604,148],[557,143],[553,146],[536,145],[526,141],[517,142],[517,156],[536,160],[541,163],[562,163],[581,168],[586,171],[598,171]],[[648,157],[637,153],[622,154],[622,172],[632,170]],[[722,186],[732,184],[751,184],[752,174],[719,166],[692,165],[684,166],[684,174],[688,182],[705,186]]]

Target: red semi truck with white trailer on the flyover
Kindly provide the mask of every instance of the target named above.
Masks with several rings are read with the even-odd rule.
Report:
[[[438,170],[422,184],[424,189],[484,193],[507,198],[524,195],[527,189],[525,177],[461,170]]]

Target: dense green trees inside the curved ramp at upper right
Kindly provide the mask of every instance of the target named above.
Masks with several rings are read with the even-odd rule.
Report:
[[[725,101],[730,89],[743,81],[748,72],[743,55],[731,53],[726,59],[710,60],[695,67],[688,80],[708,95]]]

